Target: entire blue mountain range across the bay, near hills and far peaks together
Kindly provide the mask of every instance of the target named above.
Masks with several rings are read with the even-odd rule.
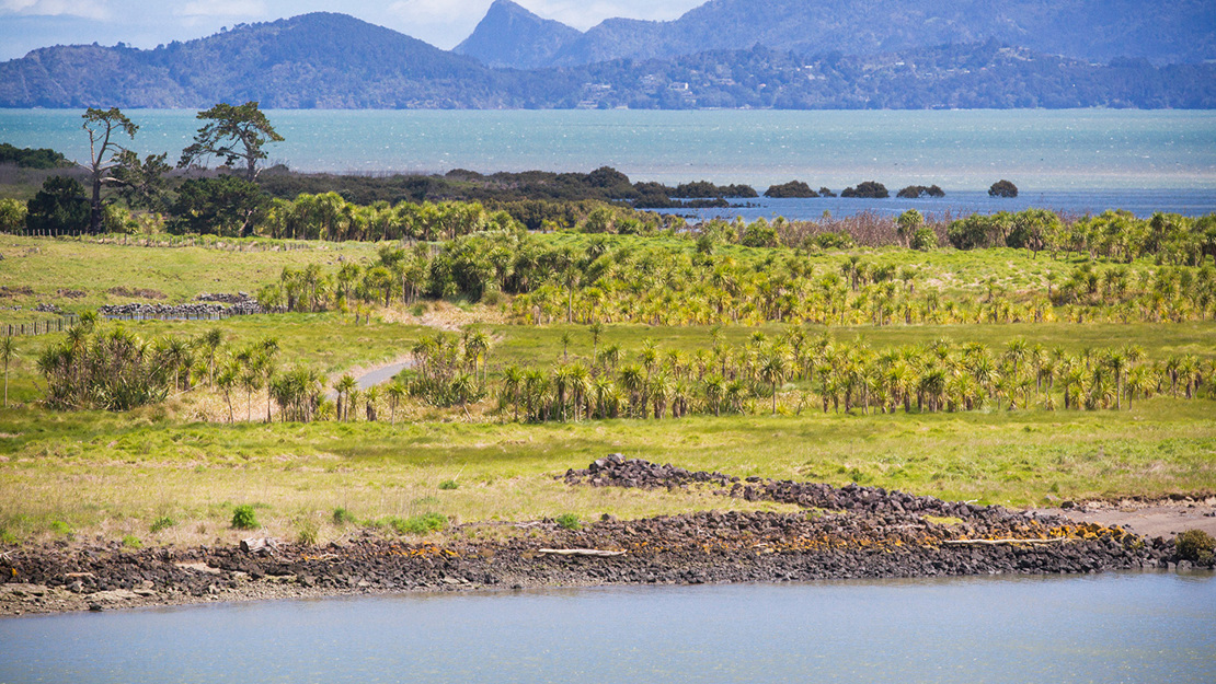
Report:
[[[34,50],[0,63],[0,107],[1216,107],[1210,4],[1180,0],[1136,21],[1147,4],[930,5],[713,0],[672,22],[579,32],[497,0],[454,51],[317,12],[154,50]],[[1069,56],[1060,22],[1077,17],[1096,23]],[[1113,55],[1120,41],[1126,52]]]

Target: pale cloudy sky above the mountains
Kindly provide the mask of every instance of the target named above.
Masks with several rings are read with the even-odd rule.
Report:
[[[156,47],[238,23],[328,11],[353,15],[443,47],[473,32],[492,0],[0,0],[0,60],[35,47]],[[674,19],[705,0],[516,0],[541,17],[587,29],[610,17]]]

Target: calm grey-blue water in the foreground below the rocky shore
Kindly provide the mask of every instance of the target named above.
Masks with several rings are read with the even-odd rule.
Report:
[[[0,682],[1216,682],[1211,573],[618,587],[0,620]]]

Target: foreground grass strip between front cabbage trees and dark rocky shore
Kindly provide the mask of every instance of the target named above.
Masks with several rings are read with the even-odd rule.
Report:
[[[455,521],[552,511],[624,519],[745,502],[692,493],[570,488],[554,479],[609,452],[732,475],[856,481],[1010,505],[1060,498],[1216,491],[1216,422],[1205,401],[1135,411],[931,416],[696,417],[581,424],[66,425],[5,439],[0,528],[28,537],[61,521],[120,538],[159,516],[161,538],[232,536],[230,501],[264,502],[264,526],[337,508],[360,520],[438,513]],[[458,490],[434,482],[460,470]],[[150,496],[151,492],[151,496]],[[197,533],[198,527],[206,530]],[[337,526],[327,527],[334,535]],[[120,533],[119,533],[120,532]],[[169,535],[169,537],[165,537]]]

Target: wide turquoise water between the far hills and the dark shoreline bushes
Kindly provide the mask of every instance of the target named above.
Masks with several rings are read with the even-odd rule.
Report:
[[[190,111],[130,111],[134,147],[176,157]],[[384,112],[272,111],[272,162],[305,171],[587,171],[765,188],[938,183],[1029,193],[1216,190],[1216,112]],[[88,154],[79,111],[0,109],[0,141]]]

